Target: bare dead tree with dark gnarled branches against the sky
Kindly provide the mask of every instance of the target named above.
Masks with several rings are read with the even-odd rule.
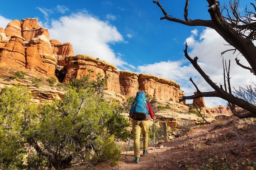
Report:
[[[211,20],[190,20],[188,18],[188,7],[189,0],[186,0],[185,8],[184,8],[184,20],[174,18],[173,15],[168,15],[165,11],[164,7],[159,3],[159,1],[153,1],[153,3],[157,4],[157,6],[162,10],[164,17],[160,18],[160,20],[166,19],[172,22],[178,22],[187,26],[206,26],[216,30],[222,38],[224,38],[234,49],[238,50],[243,57],[247,60],[249,66],[243,66],[239,63],[239,60],[236,60],[238,66],[242,66],[245,69],[248,69],[251,73],[256,73],[256,46],[254,45],[254,40],[256,38],[256,7],[254,4],[251,5],[254,7],[254,12],[249,11],[247,8],[245,9],[245,15],[241,16],[239,12],[239,0],[230,0],[229,7],[227,5],[223,5],[220,7],[220,3],[216,0],[206,0],[209,4],[209,15],[211,16]],[[222,15],[222,12],[226,11],[227,15]],[[225,51],[227,52],[227,51]],[[223,52],[223,53],[225,53]],[[194,99],[198,97],[220,97],[229,102],[229,106],[240,106],[248,111],[245,114],[239,114],[236,110],[233,111],[234,115],[239,118],[245,117],[256,117],[256,106],[247,102],[244,99],[240,99],[231,93],[231,86],[228,84],[229,90],[227,90],[227,84],[225,84],[225,89],[223,89],[222,85],[217,86],[215,83],[211,81],[208,75],[202,71],[200,66],[197,63],[198,57],[192,59],[189,57],[187,53],[187,45],[184,50],[185,57],[191,62],[194,68],[200,73],[200,75],[205,79],[205,81],[215,90],[211,92],[200,92],[198,89],[198,93],[192,96],[183,96],[180,99],[180,102],[185,99]],[[228,80],[229,78],[227,78]],[[191,79],[192,80],[192,79]],[[195,84],[194,84],[195,85]]]

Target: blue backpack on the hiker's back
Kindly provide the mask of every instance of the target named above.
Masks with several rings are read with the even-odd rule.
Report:
[[[148,105],[144,91],[137,92],[130,109],[130,117],[137,119],[145,119],[148,117]]]

